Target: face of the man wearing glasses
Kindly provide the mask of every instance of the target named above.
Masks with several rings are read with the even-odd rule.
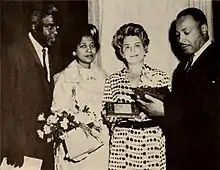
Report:
[[[39,25],[42,29],[37,33],[40,36],[40,41],[43,46],[51,46],[56,41],[58,34],[58,26],[54,23],[52,15],[47,15],[42,18]]]

